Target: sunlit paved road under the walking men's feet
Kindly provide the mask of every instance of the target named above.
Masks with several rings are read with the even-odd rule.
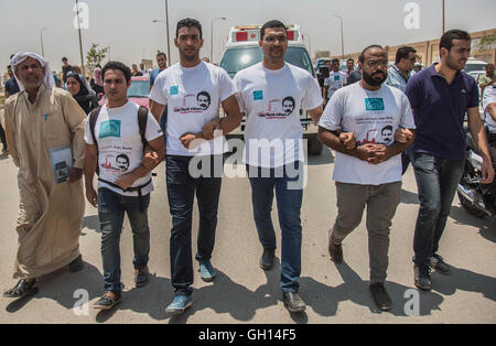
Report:
[[[496,323],[496,224],[467,215],[455,199],[440,253],[453,266],[451,277],[433,273],[433,290],[420,292],[419,315],[409,316],[405,296],[413,285],[412,228],[418,198],[411,169],[405,176],[401,205],[393,219],[387,282],[393,300],[390,312],[379,312],[368,292],[367,236],[364,225],[344,242],[345,262],[335,266],[327,255],[327,230],[336,215],[335,186],[331,181],[333,155],[325,150],[308,167],[302,223],[301,295],[304,314],[288,313],[281,302],[279,268],[265,272],[258,267],[261,247],[252,220],[247,179],[225,179],[220,196],[217,241],[213,263],[218,277],[205,283],[195,272],[194,303],[182,316],[170,317],[164,309],[172,300],[169,235],[171,216],[165,194],[164,165],[158,167],[150,207],[153,278],[149,285],[132,284],[132,239],[126,221],[121,241],[123,301],[118,309],[77,315],[73,310],[84,289],[89,306],[103,293],[100,234],[96,209],[86,207],[80,235],[84,271],[60,270],[39,280],[40,293],[29,300],[0,299],[0,323]],[[244,169],[240,167],[242,172]],[[17,250],[14,225],[18,214],[17,170],[1,158],[0,176],[0,282],[4,291],[11,279]],[[71,203],[67,201],[67,203]],[[273,218],[277,225],[277,207]],[[194,227],[197,225],[197,212]],[[196,231],[194,230],[194,239]],[[280,244],[280,236],[278,235]],[[196,246],[194,245],[194,250]],[[277,250],[280,258],[280,248]],[[194,264],[197,269],[197,263]],[[411,293],[412,291],[409,291]],[[416,293],[417,291],[413,291]],[[78,292],[76,292],[78,293]],[[85,305],[83,305],[84,307]],[[83,310],[84,312],[84,310]]]

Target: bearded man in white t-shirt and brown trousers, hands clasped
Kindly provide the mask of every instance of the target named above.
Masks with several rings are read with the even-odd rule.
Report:
[[[319,122],[319,139],[336,151],[333,179],[338,213],[330,231],[331,259],[335,263],[343,261],[342,241],[358,227],[367,208],[369,290],[384,311],[391,309],[384,283],[391,219],[401,195],[400,153],[413,142],[414,132],[408,98],[399,89],[384,84],[387,65],[388,55],[381,46],[365,48],[359,56],[363,79],[337,90]],[[377,144],[380,138],[368,138],[369,133],[380,137],[380,131],[370,130],[386,126],[395,130],[403,128],[398,136],[405,143]],[[353,131],[358,147],[347,149],[339,141],[338,131]]]

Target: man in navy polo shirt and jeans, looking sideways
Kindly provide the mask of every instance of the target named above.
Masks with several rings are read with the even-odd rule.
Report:
[[[420,199],[413,238],[413,272],[416,285],[422,290],[431,289],[430,269],[450,273],[450,267],[436,252],[463,174],[465,113],[483,156],[482,183],[488,184],[494,177],[478,113],[477,85],[462,71],[471,54],[471,36],[461,30],[450,30],[441,37],[439,47],[441,62],[414,74],[406,89],[417,125],[410,155]]]

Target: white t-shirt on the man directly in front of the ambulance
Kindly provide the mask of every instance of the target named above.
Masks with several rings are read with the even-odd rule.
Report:
[[[239,108],[246,112],[244,162],[278,167],[303,161],[298,150],[303,148],[300,109],[322,105],[315,78],[288,63],[277,71],[258,63],[238,72],[234,82]]]

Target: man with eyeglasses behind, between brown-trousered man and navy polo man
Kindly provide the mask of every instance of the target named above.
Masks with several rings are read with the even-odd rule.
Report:
[[[396,52],[396,62],[388,69],[388,78],[386,84],[400,89],[405,93],[407,88],[407,83],[412,76],[412,69],[416,64],[417,51],[410,46],[402,46]],[[410,164],[410,152],[407,150],[401,154],[401,174],[407,172]]]

